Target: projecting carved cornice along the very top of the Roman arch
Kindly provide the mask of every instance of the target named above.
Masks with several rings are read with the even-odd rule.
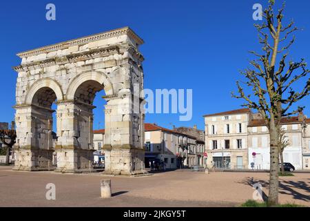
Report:
[[[17,56],[19,56],[20,58],[23,57],[30,57],[30,56],[34,56],[34,55],[39,55],[42,53],[48,53],[48,52],[52,52],[52,51],[56,51],[56,50],[63,50],[63,49],[67,49],[70,46],[76,46],[76,45],[81,45],[81,44],[87,44],[90,43],[92,41],[99,41],[101,39],[107,39],[110,37],[117,37],[120,35],[128,35],[129,37],[131,37],[132,39],[134,39],[134,41],[136,41],[136,43],[138,45],[141,45],[144,43],[143,39],[141,39],[140,37],[138,37],[138,35],[136,35],[136,33],[130,29],[129,27],[125,27],[125,28],[118,28],[115,30],[111,30],[108,32],[101,32],[99,34],[96,35],[90,35],[87,37],[81,37],[78,39],[73,39],[70,41],[63,41],[59,44],[53,44],[50,46],[45,46],[42,48],[37,48],[34,50],[28,50],[25,52],[20,52],[19,54],[17,54]]]

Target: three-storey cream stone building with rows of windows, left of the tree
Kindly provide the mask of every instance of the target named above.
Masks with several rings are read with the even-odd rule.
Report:
[[[205,115],[207,166],[246,169],[249,109]]]

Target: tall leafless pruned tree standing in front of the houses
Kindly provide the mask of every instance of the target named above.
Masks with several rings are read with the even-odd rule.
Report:
[[[246,95],[239,81],[236,82],[238,95],[232,93],[233,97],[245,99],[243,106],[257,110],[264,117],[265,124],[269,128],[269,206],[278,204],[280,119],[302,111],[304,107],[300,106],[292,111],[292,105],[309,95],[310,89],[310,78],[305,81],[306,84],[300,92],[292,88],[296,81],[309,76],[309,70],[304,59],[299,62],[287,62],[288,50],[295,41],[294,36],[290,40],[288,38],[298,28],[294,26],[293,21],[287,26],[283,25],[284,4],[276,15],[273,13],[273,8],[275,8],[274,1],[269,1],[269,6],[263,12],[265,21],[254,25],[258,30],[262,52],[251,51],[250,53],[257,59],[249,62],[251,68],[240,72],[246,79],[241,83],[251,88],[252,93]],[[251,95],[254,96],[251,97]]]

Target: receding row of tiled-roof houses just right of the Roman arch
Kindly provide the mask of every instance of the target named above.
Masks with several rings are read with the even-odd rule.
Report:
[[[205,142],[192,135],[145,123],[145,167],[165,161],[167,169],[204,166]]]

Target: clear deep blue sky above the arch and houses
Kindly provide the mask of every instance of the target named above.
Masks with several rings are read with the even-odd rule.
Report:
[[[45,19],[45,6],[54,3],[56,21]],[[193,89],[193,118],[179,122],[176,114],[152,114],[146,122],[168,128],[204,126],[203,115],[240,108],[236,91],[238,70],[247,68],[248,50],[258,50],[252,6],[267,0],[240,1],[3,1],[0,6],[0,122],[14,119],[14,96],[20,64],[17,52],[130,26],[145,40],[145,88]],[[297,33],[289,58],[309,57],[310,1],[287,1],[285,15],[303,31]],[[303,79],[305,81],[305,79]],[[304,82],[300,82],[299,85]],[[300,105],[307,106],[310,98]],[[103,127],[103,101],[96,96],[94,128]]]

